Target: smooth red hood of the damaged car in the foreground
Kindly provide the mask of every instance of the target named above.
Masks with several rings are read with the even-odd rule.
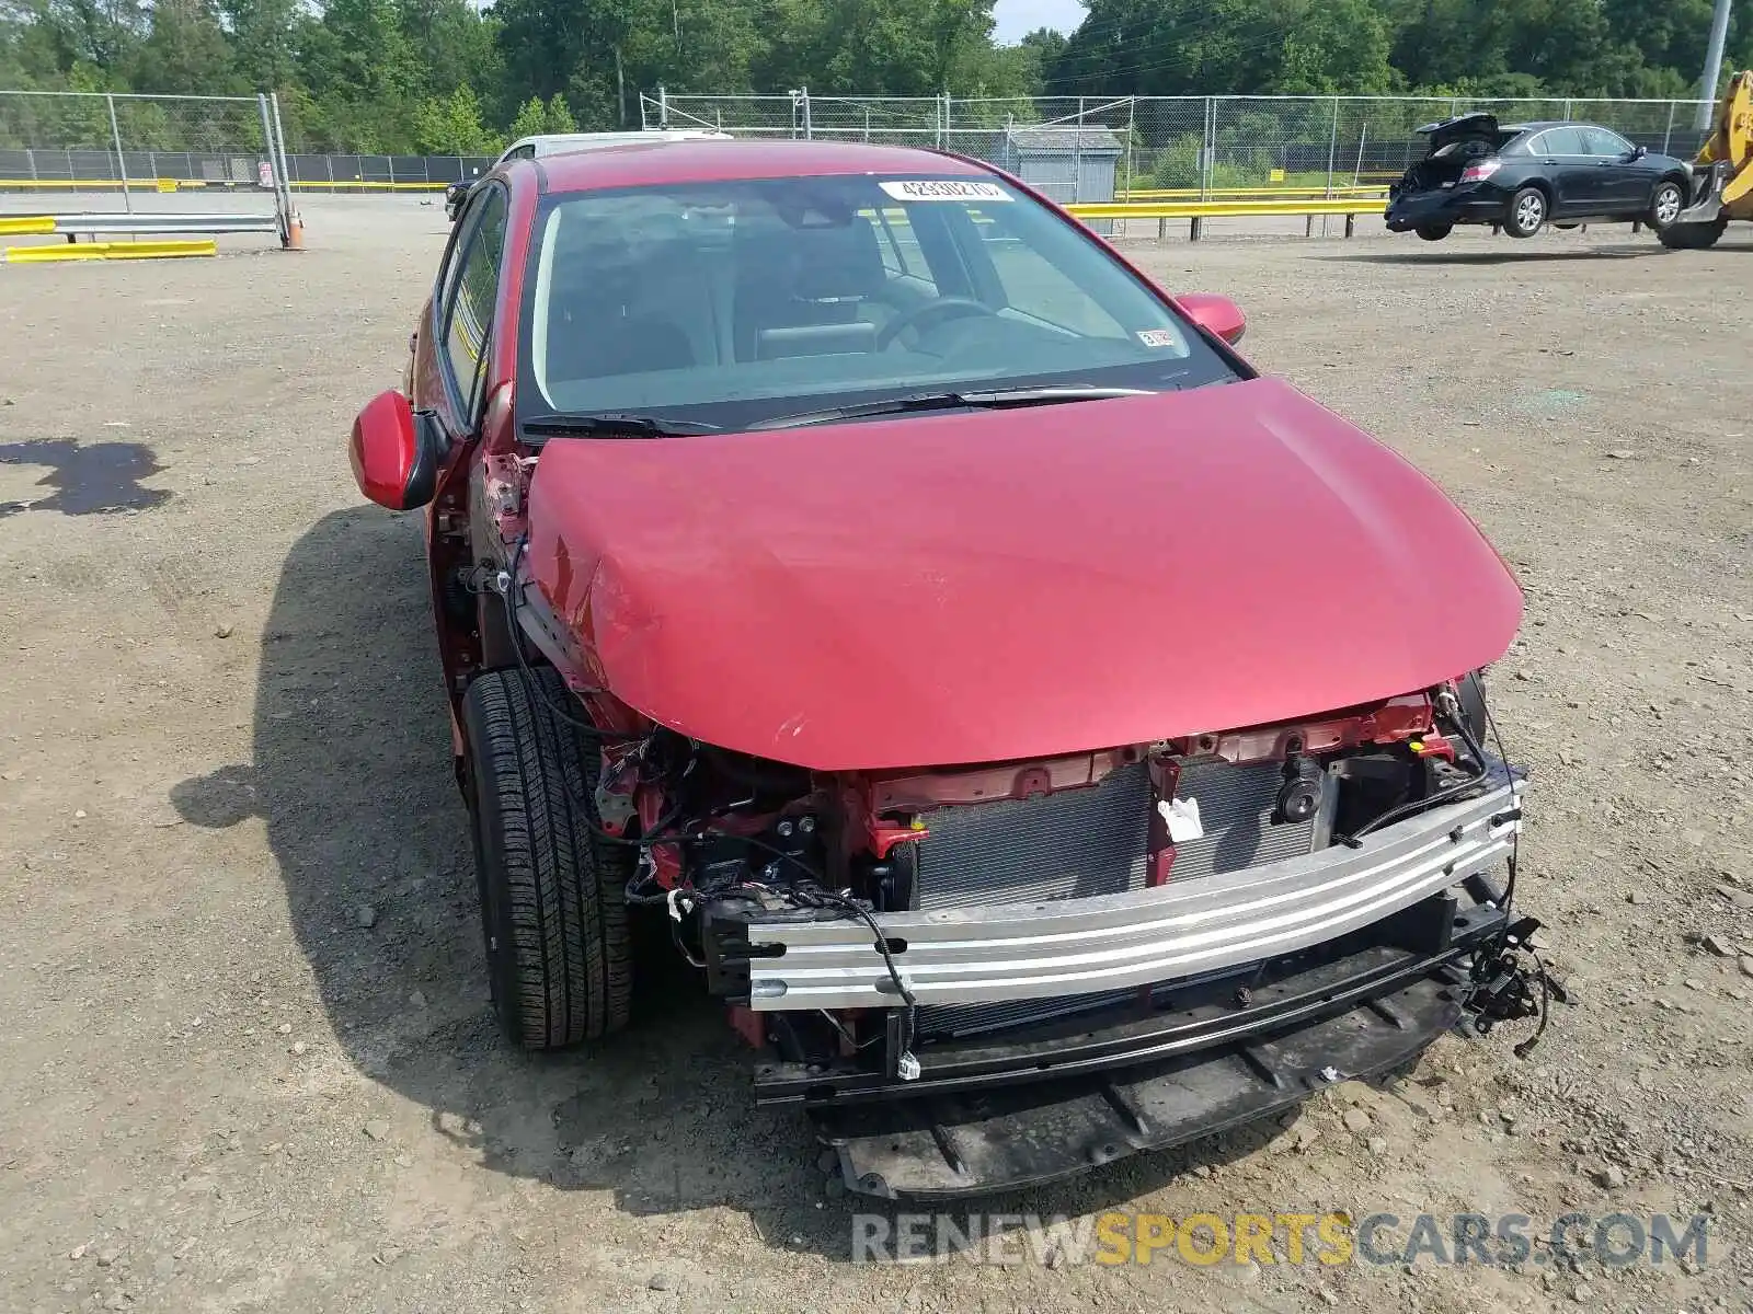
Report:
[[[1413,466],[1287,384],[552,440],[536,585],[657,722],[820,771],[1332,711],[1495,661],[1522,594]]]

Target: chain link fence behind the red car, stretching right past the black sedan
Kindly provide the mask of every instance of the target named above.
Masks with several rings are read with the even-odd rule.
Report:
[[[1104,170],[1075,168],[1062,201],[1141,193],[1346,194],[1381,189],[1423,152],[1420,124],[1471,110],[1504,123],[1578,119],[1637,145],[1690,159],[1704,140],[1695,100],[1469,100],[1415,96],[640,96],[647,128],[708,126],[735,137],[799,137],[934,145],[1011,166],[1031,142],[1069,142],[1078,154],[1115,154],[1113,191],[1092,193]],[[1064,130],[1045,138],[1038,130]]]

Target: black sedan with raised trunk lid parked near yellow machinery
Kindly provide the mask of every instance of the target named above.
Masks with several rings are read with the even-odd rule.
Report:
[[[1429,152],[1388,189],[1388,230],[1439,242],[1455,224],[1534,237],[1548,221],[1646,223],[1686,208],[1692,168],[1588,123],[1513,123],[1464,114],[1418,130]]]

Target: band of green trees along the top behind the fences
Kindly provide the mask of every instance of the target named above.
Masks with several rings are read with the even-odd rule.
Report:
[[[994,46],[990,0],[0,0],[0,86],[280,96],[289,145],[461,151],[498,130],[633,126],[638,95],[780,93],[994,98],[992,123],[1047,95],[1685,96],[1713,0],[1085,0],[1062,37]],[[1735,7],[1728,67],[1753,63],[1753,0]],[[1010,98],[997,105],[1001,98]],[[784,114],[784,110],[780,110]],[[831,109],[819,110],[831,114]],[[1406,110],[1413,114],[1415,110]],[[138,142],[237,142],[249,128],[130,105]],[[1274,112],[1250,131],[1320,140]],[[1369,110],[1371,138],[1397,133]],[[102,100],[32,105],[7,140],[103,145]],[[235,116],[233,116],[235,117]],[[1304,123],[1302,119],[1308,119]],[[682,119],[685,121],[685,119]],[[1331,133],[1331,107],[1325,131]],[[1160,124],[1160,133],[1152,128]],[[1139,119],[1141,172],[1180,177],[1197,133]],[[1241,121],[1220,154],[1253,170]],[[1194,154],[1189,154],[1189,152]],[[1225,165],[1231,166],[1231,165]]]

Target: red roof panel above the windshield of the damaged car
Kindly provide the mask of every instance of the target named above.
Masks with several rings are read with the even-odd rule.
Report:
[[[543,156],[543,193],[727,182],[824,173],[992,177],[985,165],[941,151],[862,142],[631,142],[582,154]]]

